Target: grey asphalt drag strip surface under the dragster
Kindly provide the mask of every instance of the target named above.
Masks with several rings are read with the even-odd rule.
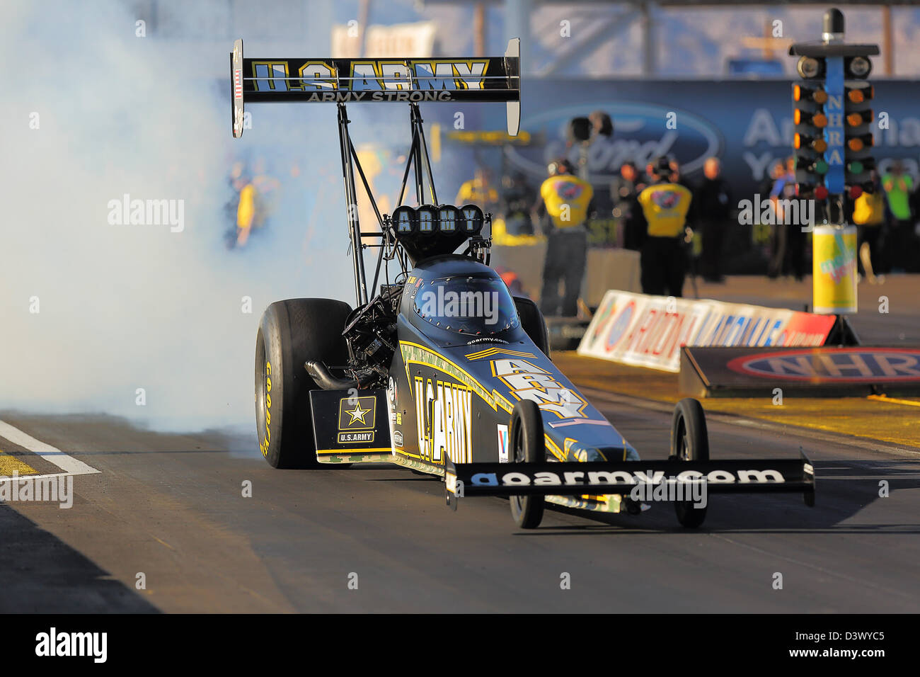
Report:
[[[668,405],[585,394],[645,458],[666,455]],[[73,508],[0,505],[4,613],[920,611],[917,449],[715,415],[713,458],[804,449],[817,506],[714,496],[700,531],[668,504],[638,518],[552,509],[521,531],[506,500],[454,513],[438,479],[394,467],[274,470],[254,433],[0,419],[99,471],[74,478]],[[8,439],[0,449],[42,472]]]

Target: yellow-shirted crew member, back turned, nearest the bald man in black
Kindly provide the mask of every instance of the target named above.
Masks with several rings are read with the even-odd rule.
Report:
[[[686,217],[693,194],[671,181],[671,171],[668,158],[658,158],[649,187],[638,194],[639,221],[646,231],[639,267],[643,294],[680,298],[687,270]]]

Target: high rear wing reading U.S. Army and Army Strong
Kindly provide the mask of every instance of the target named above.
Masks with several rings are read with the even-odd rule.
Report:
[[[504,101],[508,134],[521,124],[521,40],[504,56],[453,59],[247,59],[230,54],[233,135],[243,135],[245,103]]]

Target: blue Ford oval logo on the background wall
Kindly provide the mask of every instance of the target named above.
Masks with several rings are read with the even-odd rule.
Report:
[[[544,132],[546,146],[510,146],[506,152],[512,164],[539,177],[546,177],[546,165],[555,158],[578,163],[580,148],[566,147],[569,120],[590,111],[606,111],[614,119],[613,138],[596,137],[588,146],[588,170],[592,183],[609,183],[619,175],[627,160],[643,169],[651,160],[670,155],[681,163],[681,173],[702,169],[706,158],[718,156],[723,141],[719,129],[694,113],[653,103],[597,101],[578,106],[550,109],[525,118],[522,129],[531,134]],[[673,119],[676,129],[668,129]]]

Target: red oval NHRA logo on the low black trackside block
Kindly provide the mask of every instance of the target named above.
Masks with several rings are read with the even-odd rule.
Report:
[[[732,371],[803,382],[920,381],[920,348],[822,348],[735,357]]]

